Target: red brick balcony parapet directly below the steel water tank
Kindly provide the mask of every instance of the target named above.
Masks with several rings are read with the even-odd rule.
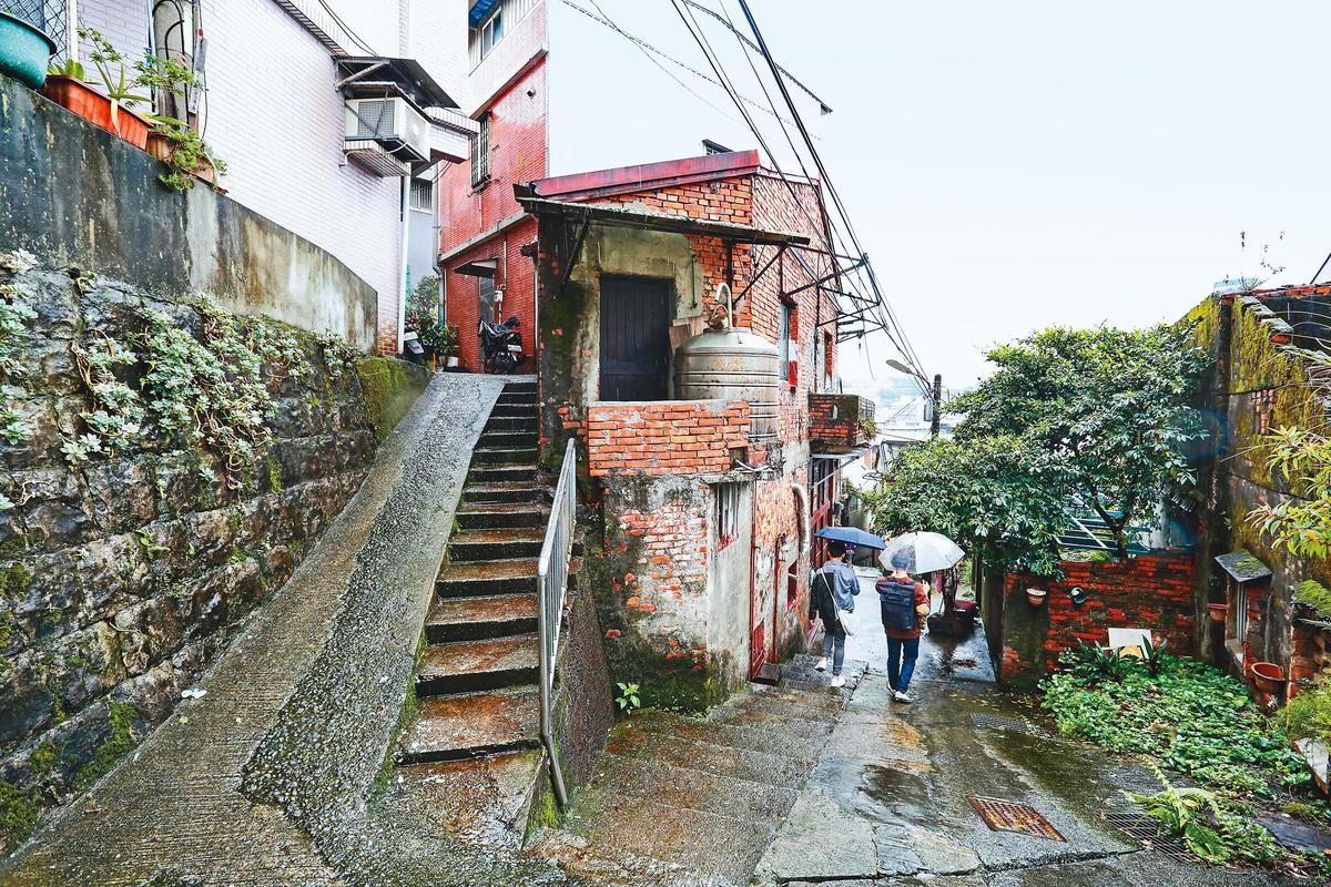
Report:
[[[725,472],[731,448],[748,444],[748,424],[743,402],[594,404],[587,410],[590,471],[594,477]]]

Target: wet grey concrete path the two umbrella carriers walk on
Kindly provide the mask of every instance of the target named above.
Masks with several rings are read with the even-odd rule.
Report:
[[[872,586],[861,593],[855,618],[860,630],[848,654],[869,658],[870,672],[763,855],[756,883],[1299,883],[1175,862],[1105,823],[1102,811],[1129,810],[1121,790],[1154,790],[1154,779],[1135,765],[1057,737],[1042,713],[1001,693],[984,665],[978,633],[961,645],[926,636],[912,682],[917,702],[892,702]],[[1062,840],[993,831],[968,795],[1029,805]]]

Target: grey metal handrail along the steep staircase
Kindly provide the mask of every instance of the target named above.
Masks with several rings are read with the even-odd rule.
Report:
[[[536,630],[540,634],[540,743],[550,755],[550,774],[560,810],[568,806],[564,774],[559,769],[555,735],[551,729],[551,697],[555,692],[555,658],[559,656],[559,629],[563,624],[564,596],[568,592],[568,561],[578,525],[578,449],[568,442],[564,461],[550,504],[546,541],[536,565]]]

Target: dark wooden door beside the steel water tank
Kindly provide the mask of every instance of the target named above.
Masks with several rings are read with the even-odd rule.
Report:
[[[600,279],[600,399],[664,400],[669,374],[671,282]]]

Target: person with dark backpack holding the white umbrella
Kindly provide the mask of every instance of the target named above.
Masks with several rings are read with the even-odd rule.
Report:
[[[906,692],[920,658],[920,626],[929,616],[929,589],[910,574],[948,569],[964,556],[956,543],[940,533],[898,536],[880,556],[888,569],[874,590],[878,592],[882,630],[888,636],[888,681],[897,702],[914,702]]]

